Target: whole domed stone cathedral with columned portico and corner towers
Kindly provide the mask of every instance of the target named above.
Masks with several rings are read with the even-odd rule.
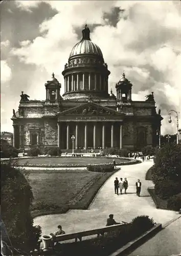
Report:
[[[159,144],[161,113],[156,113],[153,92],[145,101],[131,99],[132,84],[123,73],[108,93],[110,71],[101,49],[90,39],[87,25],[64,66],[64,94],[52,74],[44,84],[45,100],[30,100],[21,92],[13,110],[16,148],[58,146],[68,152],[117,147],[140,151]],[[72,143],[73,142],[73,143]]]

